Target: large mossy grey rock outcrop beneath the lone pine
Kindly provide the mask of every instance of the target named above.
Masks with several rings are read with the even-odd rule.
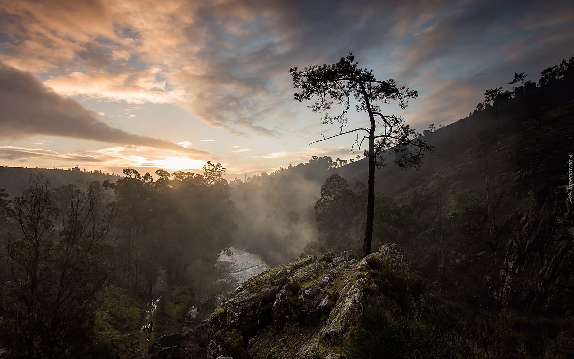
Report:
[[[212,314],[208,358],[344,358],[367,297],[385,296],[388,273],[416,276],[387,244],[360,261],[327,253],[252,277]]]

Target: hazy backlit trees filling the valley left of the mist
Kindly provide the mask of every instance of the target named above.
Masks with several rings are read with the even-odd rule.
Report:
[[[126,168],[115,183],[58,188],[38,174],[10,201],[0,191],[2,355],[90,356],[111,284],[149,298],[163,268],[169,283],[193,288],[192,263],[212,267],[236,226],[224,171],[208,162],[203,175],[160,169],[154,180]]]

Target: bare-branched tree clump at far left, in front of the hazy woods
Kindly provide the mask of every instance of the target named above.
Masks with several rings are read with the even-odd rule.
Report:
[[[33,175],[29,189],[9,209],[21,236],[5,243],[0,313],[15,357],[81,355],[94,326],[96,293],[108,284],[112,248],[104,238],[113,211],[103,206],[98,183],[88,184],[85,193],[73,186],[63,192],[60,211],[48,180]],[[62,224],[55,227],[60,213]]]

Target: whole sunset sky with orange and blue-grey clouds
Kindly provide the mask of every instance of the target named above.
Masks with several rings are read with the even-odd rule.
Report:
[[[418,90],[383,111],[422,132],[574,56],[574,2],[0,0],[0,165],[199,173],[209,160],[233,179],[355,158],[352,134],[311,144],[340,125],[294,101],[289,75],[349,51]]]

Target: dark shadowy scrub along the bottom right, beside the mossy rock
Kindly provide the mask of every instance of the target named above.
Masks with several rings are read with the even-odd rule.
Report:
[[[476,312],[459,304],[430,304],[418,316],[392,301],[370,298],[347,343],[349,359],[559,359],[563,338],[526,333],[512,311]],[[572,338],[571,338],[572,339]]]

